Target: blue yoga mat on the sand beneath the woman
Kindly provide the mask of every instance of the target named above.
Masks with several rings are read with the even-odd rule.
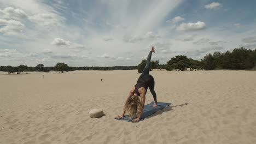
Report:
[[[156,111],[162,110],[162,109],[164,109],[166,106],[171,105],[171,103],[161,103],[161,102],[158,102],[158,106],[153,107],[153,105],[154,105],[154,101],[152,101],[150,104],[147,104],[147,105],[144,106],[144,110],[143,110],[141,119],[139,119],[138,122],[143,121],[144,118],[146,118],[146,117],[152,115],[152,114],[155,113]],[[118,120],[120,120],[120,121],[129,121],[129,122],[132,122],[132,120],[129,119],[129,115],[125,115],[124,118],[120,118],[120,119],[118,119]],[[132,123],[133,123],[133,122],[132,122]]]

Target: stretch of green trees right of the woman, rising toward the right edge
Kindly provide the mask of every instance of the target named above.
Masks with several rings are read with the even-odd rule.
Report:
[[[159,64],[158,61],[153,61],[152,69],[166,69],[170,70],[217,70],[217,69],[231,69],[231,70],[245,70],[256,69],[256,49],[248,50],[244,47],[226,52],[209,53],[201,61],[188,58],[184,55],[175,56],[166,62],[167,64]],[[146,65],[146,59],[138,65],[138,73],[141,73]]]

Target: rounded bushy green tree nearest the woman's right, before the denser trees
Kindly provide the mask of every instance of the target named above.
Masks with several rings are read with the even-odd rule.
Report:
[[[168,65],[178,69],[179,71],[184,71],[185,69],[189,68],[189,59],[187,56],[179,55],[171,58],[170,61],[167,62]]]

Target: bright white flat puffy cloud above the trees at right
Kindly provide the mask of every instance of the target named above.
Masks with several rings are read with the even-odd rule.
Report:
[[[205,22],[197,21],[196,23],[182,23],[179,25],[176,30],[177,31],[198,31],[201,29],[205,29]]]

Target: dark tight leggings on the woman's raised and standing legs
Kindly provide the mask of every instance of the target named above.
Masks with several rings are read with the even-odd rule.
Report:
[[[153,95],[153,98],[154,98],[155,102],[156,102],[157,101],[156,100],[156,93],[155,93],[155,89],[154,89],[155,80],[154,80],[152,75],[149,75],[151,56],[152,56],[152,51],[149,52],[148,59],[147,59],[147,64],[146,64],[145,68],[143,69],[141,76],[139,76],[139,77],[149,79],[149,89],[150,89],[150,92]]]

